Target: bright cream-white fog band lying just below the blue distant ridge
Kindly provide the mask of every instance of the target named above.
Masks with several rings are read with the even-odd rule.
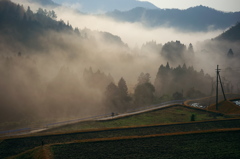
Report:
[[[172,40],[180,40],[184,44],[195,44],[198,41],[210,39],[222,33],[222,30],[186,33],[169,27],[146,28],[140,23],[118,22],[104,16],[77,14],[66,8],[58,8],[56,12],[58,19],[69,21],[74,27],[86,27],[92,30],[107,31],[118,35],[131,48],[141,46],[146,41],[151,40],[162,44]]]

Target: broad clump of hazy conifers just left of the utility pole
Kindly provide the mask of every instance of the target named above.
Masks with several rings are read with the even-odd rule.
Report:
[[[205,94],[209,93],[211,82],[211,77],[205,75],[202,69],[197,72],[192,66],[187,67],[185,63],[182,66],[171,68],[169,63],[167,63],[166,66],[161,65],[159,67],[154,86],[157,97],[161,97],[164,94],[173,95],[173,93],[179,90],[190,90],[193,87],[199,91],[198,93],[195,92],[195,95],[202,96],[202,92]]]

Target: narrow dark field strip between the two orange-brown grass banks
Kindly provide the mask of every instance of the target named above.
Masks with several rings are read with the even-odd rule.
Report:
[[[118,137],[134,137],[134,136],[146,136],[154,134],[171,134],[171,133],[183,133],[192,131],[205,131],[215,129],[231,129],[239,128],[240,120],[214,120],[204,122],[189,122],[178,124],[165,124],[165,125],[152,125],[152,126],[139,126],[139,127],[125,127],[125,128],[108,128],[98,129],[92,131],[78,131],[65,134],[49,134],[49,135],[37,135],[26,136],[19,138],[2,139],[0,143],[0,154],[2,158],[18,155],[30,149],[33,149],[42,145],[52,144],[64,144],[75,142],[79,140],[99,140],[106,138],[118,138]]]

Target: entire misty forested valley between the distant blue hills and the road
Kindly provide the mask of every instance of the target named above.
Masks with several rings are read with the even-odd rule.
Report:
[[[225,27],[181,32],[0,0],[0,127],[211,96],[217,65],[225,91],[240,93],[240,24]]]

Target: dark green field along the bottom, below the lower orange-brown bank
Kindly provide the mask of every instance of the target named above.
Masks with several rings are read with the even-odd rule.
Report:
[[[240,131],[52,146],[54,158],[240,158]]]

